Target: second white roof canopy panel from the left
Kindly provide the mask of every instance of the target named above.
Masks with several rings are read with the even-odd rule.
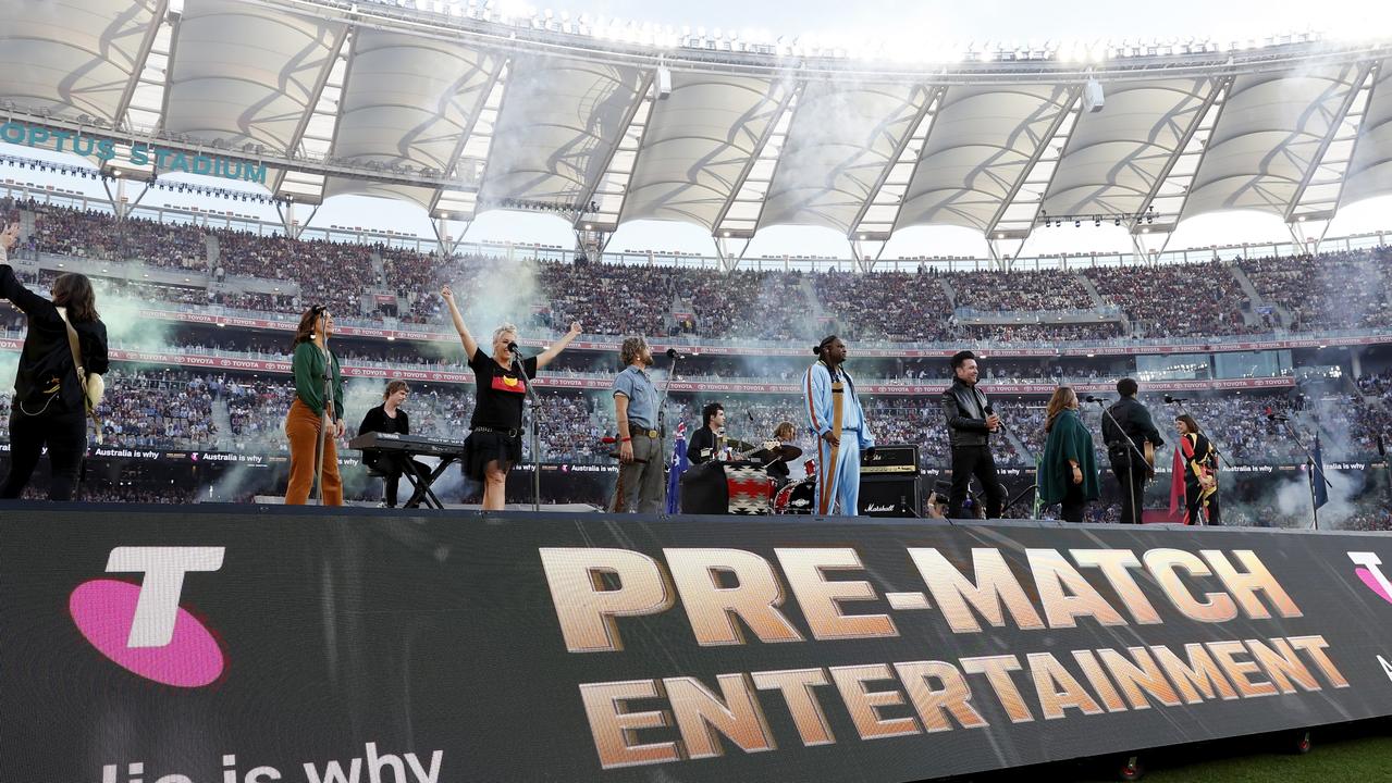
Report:
[[[252,3],[187,0],[164,129],[291,150],[329,78],[342,24]]]

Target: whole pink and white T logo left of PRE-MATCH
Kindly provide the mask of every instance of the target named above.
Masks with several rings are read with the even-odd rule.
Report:
[[[139,586],[85,581],[68,598],[82,636],[122,669],[182,688],[223,675],[226,658],[212,631],[178,605],[184,576],[223,567],[223,547],[117,547],[107,573],[143,573]]]

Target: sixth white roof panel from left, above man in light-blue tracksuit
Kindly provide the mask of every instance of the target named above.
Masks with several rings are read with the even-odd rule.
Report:
[[[807,85],[764,200],[759,227],[849,232],[928,100],[916,85]]]

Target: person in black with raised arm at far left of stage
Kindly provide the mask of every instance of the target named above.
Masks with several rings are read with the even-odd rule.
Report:
[[[18,238],[18,223],[0,232],[0,298],[28,320],[10,403],[10,474],[0,498],[24,492],[47,446],[49,499],[71,501],[86,455],[88,413],[100,402],[107,371],[106,324],[85,275],[58,275],[52,300],[21,285],[8,263]],[[74,332],[81,364],[74,362]]]

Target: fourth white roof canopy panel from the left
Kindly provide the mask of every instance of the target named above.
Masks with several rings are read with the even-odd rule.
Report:
[[[514,57],[480,200],[574,204],[604,174],[644,81],[624,65]]]

